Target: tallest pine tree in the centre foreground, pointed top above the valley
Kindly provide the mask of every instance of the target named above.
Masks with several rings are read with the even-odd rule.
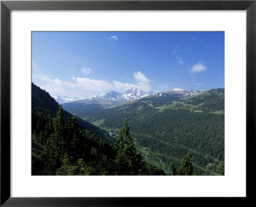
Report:
[[[126,119],[116,140],[116,166],[118,174],[138,175],[145,173],[145,163],[134,146]]]

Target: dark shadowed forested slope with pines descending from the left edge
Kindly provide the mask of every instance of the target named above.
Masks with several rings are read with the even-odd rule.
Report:
[[[31,115],[33,175],[164,174],[143,161],[124,119],[113,143],[108,133],[64,111],[33,83]]]

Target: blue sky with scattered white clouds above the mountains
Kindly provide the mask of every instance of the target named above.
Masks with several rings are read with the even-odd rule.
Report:
[[[33,32],[32,81],[82,98],[224,87],[224,32]]]

